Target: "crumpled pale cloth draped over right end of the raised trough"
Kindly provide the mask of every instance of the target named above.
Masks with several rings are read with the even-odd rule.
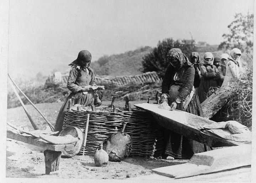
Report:
[[[235,142],[251,142],[250,130],[246,126],[232,120],[205,125],[202,130]]]

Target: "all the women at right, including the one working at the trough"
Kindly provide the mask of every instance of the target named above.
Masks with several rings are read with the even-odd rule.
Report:
[[[210,87],[229,87],[239,77],[241,51],[234,48],[230,56],[222,54],[216,59],[206,52],[201,62],[197,52],[192,52],[190,60],[181,49],[173,48],[167,53],[169,65],[162,81],[162,102],[160,109],[179,109],[203,117],[200,103],[208,95]],[[210,147],[203,145],[175,131],[164,130],[166,159],[189,159],[198,152],[207,151]]]

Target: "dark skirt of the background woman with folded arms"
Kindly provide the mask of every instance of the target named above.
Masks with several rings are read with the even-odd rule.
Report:
[[[208,92],[210,87],[218,87],[218,81],[214,79],[202,78],[199,88],[198,88],[198,97],[199,102],[202,103],[209,97]]]

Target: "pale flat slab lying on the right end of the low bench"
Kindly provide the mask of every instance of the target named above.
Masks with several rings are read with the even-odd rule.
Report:
[[[72,144],[78,141],[78,137],[73,137],[72,135],[65,135],[65,136],[40,135],[40,138],[49,142],[50,144]]]

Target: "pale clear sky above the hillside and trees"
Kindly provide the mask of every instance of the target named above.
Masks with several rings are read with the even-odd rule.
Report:
[[[97,60],[165,38],[191,39],[190,32],[219,44],[235,13],[253,7],[253,0],[10,0],[9,72],[48,75],[82,49]]]

